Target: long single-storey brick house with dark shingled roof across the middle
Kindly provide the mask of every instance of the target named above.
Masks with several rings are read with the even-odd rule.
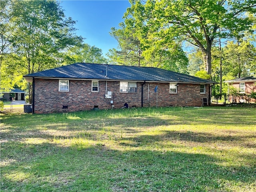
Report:
[[[25,75],[33,112],[208,105],[216,82],[160,68],[75,63]],[[157,86],[157,88],[156,88]],[[156,92],[155,92],[156,91]],[[205,103],[206,101],[206,103]]]

